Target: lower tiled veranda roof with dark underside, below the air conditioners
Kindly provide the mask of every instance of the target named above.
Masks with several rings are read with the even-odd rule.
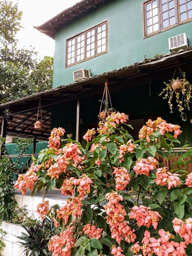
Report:
[[[178,64],[186,74],[191,73],[192,47],[156,58],[144,59],[133,65],[94,75],[94,77],[78,82],[61,85],[20,100],[0,104],[0,125],[2,124],[3,111],[5,108],[9,108],[14,115],[13,120],[8,123],[10,135],[30,138],[36,136],[38,139],[46,140],[51,131],[51,110],[54,106],[77,99],[83,100],[93,95],[102,95],[106,78],[108,79],[110,92],[147,84],[149,80],[163,81],[170,79]],[[43,128],[35,130],[34,122],[37,119],[40,100]]]

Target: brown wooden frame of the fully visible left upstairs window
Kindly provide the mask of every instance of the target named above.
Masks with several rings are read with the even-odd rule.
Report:
[[[101,52],[101,53],[96,53],[96,51],[97,51],[97,34],[98,34],[96,30],[97,30],[97,28],[98,28],[99,26],[102,26],[103,24],[106,24],[106,50],[103,51],[103,52]],[[86,42],[87,42],[87,33],[88,33],[89,31],[93,30],[93,29],[95,29],[95,41],[94,41],[94,51],[95,51],[95,54],[94,54],[93,56],[86,57],[86,51],[87,51],[87,43],[86,43]],[[84,58],[83,58],[82,60],[80,60],[80,61],[76,61],[76,57],[77,57],[77,37],[79,37],[79,36],[81,36],[81,35],[84,35],[84,44],[85,44],[85,45],[84,45]],[[74,56],[74,57],[75,57],[75,62],[72,63],[72,64],[67,65],[67,62],[68,62],[68,42],[69,42],[70,40],[72,40],[72,39],[75,39],[75,56]],[[98,56],[100,56],[100,55],[103,55],[103,54],[105,54],[105,53],[108,53],[108,19],[107,19],[107,20],[104,20],[104,21],[102,21],[102,22],[96,24],[95,26],[92,26],[92,27],[90,27],[90,28],[88,28],[88,29],[86,29],[86,30],[84,30],[84,31],[82,31],[82,32],[80,32],[80,33],[78,33],[78,34],[76,34],[76,35],[74,35],[74,36],[69,37],[69,38],[66,39],[65,68],[72,67],[72,66],[74,66],[74,65],[77,65],[77,64],[82,63],[82,62],[84,62],[84,61],[87,61],[87,60],[89,60],[89,59],[93,59],[93,58],[98,57]]]

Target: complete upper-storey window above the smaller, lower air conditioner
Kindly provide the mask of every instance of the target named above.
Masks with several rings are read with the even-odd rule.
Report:
[[[66,67],[107,52],[108,22],[102,22],[84,32],[67,39]]]

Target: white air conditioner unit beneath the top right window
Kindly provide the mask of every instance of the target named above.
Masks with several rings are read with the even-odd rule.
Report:
[[[174,51],[188,46],[186,33],[169,38],[169,50]]]

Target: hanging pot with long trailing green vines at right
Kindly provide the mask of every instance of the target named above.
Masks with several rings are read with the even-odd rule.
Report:
[[[179,71],[179,77],[174,79],[176,70]],[[158,95],[162,96],[164,100],[168,100],[170,113],[173,113],[173,98],[175,96],[176,106],[180,112],[182,121],[186,121],[185,110],[190,110],[190,103],[192,98],[192,85],[186,79],[185,73],[181,71],[179,66],[176,66],[172,79],[168,83],[164,82],[165,88]]]

